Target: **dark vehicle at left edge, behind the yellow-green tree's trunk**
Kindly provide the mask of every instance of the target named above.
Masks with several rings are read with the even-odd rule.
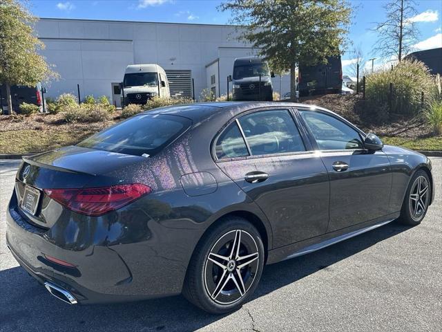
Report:
[[[45,91],[45,89],[44,89]],[[41,83],[36,86],[13,85],[11,86],[12,109],[20,113],[20,104],[35,104],[39,106],[40,112],[43,112],[43,98],[41,93]],[[3,113],[10,114],[8,110],[8,100],[6,100],[6,86],[0,84],[0,108],[3,107]]]

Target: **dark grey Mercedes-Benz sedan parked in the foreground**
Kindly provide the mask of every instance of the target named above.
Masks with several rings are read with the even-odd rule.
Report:
[[[6,241],[70,304],[182,293],[226,313],[266,264],[395,219],[418,225],[431,169],[320,107],[164,107],[23,158]]]

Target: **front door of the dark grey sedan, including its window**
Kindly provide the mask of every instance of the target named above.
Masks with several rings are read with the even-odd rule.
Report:
[[[362,132],[332,113],[299,110],[330,179],[327,232],[388,214],[392,173],[383,151],[364,149]]]

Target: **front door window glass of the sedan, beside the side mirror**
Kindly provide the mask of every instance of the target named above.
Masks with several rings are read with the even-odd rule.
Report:
[[[344,122],[324,113],[301,111],[321,150],[362,149],[361,136]]]

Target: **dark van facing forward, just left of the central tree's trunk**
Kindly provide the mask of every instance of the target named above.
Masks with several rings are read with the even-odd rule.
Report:
[[[273,100],[267,62],[259,57],[238,57],[233,63],[232,100]]]

